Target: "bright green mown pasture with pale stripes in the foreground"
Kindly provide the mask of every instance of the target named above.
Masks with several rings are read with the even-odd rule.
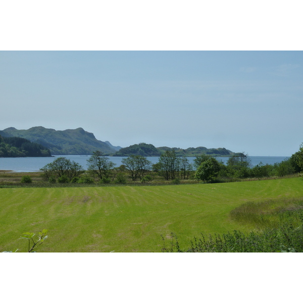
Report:
[[[48,229],[37,251],[160,252],[161,234],[181,248],[202,232],[254,229],[230,212],[246,203],[303,196],[300,178],[217,184],[0,188],[0,251],[26,251],[23,232]],[[183,247],[182,247],[183,246]]]

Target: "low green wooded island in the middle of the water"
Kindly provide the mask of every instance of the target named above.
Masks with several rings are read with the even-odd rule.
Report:
[[[178,147],[155,147],[153,144],[139,143],[133,144],[128,147],[121,148],[113,156],[118,157],[129,157],[131,155],[140,155],[144,157],[159,157],[165,153],[166,150],[175,150],[178,157],[196,157],[198,155],[206,154],[213,157],[229,157],[238,153],[233,153],[231,150],[226,148],[206,148],[203,146],[189,147],[186,149]]]

